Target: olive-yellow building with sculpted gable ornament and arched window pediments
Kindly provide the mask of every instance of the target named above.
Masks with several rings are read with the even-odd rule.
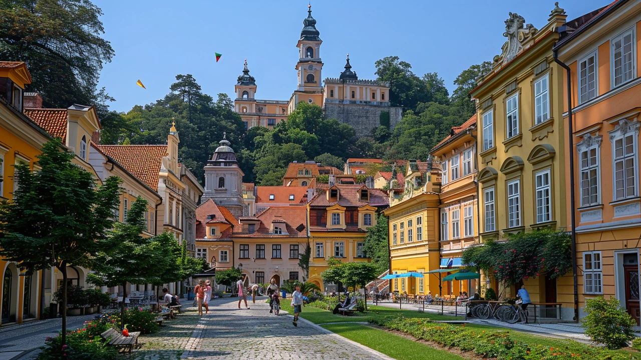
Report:
[[[537,29],[510,13],[508,38],[492,69],[478,80],[476,99],[479,161],[479,236],[505,239],[510,233],[567,229],[567,130],[563,124],[563,69],[554,62],[554,29],[565,23],[554,8]],[[563,318],[573,316],[572,275],[525,281],[533,302],[561,302]],[[485,286],[514,296],[488,279]]]

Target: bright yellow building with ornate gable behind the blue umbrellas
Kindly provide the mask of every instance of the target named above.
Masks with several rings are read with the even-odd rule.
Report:
[[[389,218],[390,270],[392,274],[425,273],[423,278],[401,278],[391,281],[390,291],[425,295],[439,294],[438,277],[427,274],[438,269],[440,245],[438,241],[440,177],[433,174],[427,163],[419,167],[410,160],[404,176],[403,192],[390,192],[390,207],[383,211]],[[390,188],[398,188],[395,176]]]

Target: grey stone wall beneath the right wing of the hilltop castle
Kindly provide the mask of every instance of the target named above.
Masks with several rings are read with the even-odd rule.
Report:
[[[390,130],[401,121],[403,108],[392,106],[378,106],[365,104],[328,104],[323,107],[325,119],[337,119],[338,122],[348,124],[356,130],[356,136],[371,136],[374,127],[381,126],[380,115],[382,111],[390,112]]]

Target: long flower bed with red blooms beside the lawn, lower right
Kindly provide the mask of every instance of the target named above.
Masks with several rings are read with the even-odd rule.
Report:
[[[544,347],[510,338],[509,331],[479,331],[465,325],[430,322],[426,318],[384,317],[372,318],[370,323],[390,330],[404,332],[419,340],[433,341],[463,352],[498,360],[624,360],[641,359],[636,353],[590,347],[568,341],[564,347]]]

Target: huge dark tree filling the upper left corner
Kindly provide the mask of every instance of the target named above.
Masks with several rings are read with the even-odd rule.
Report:
[[[0,2],[0,59],[25,61],[46,108],[97,102],[103,63],[114,55],[100,8],[88,0]]]

